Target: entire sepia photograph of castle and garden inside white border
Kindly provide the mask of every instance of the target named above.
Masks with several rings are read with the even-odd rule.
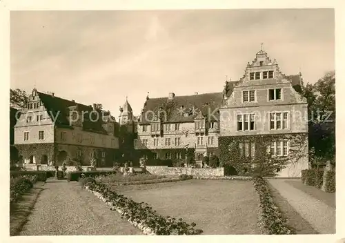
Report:
[[[9,28],[10,236],[336,233],[334,8]]]

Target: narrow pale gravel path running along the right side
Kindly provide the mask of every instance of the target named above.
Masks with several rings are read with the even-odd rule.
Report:
[[[334,234],[335,208],[291,186],[290,180],[295,179],[268,179],[268,182],[317,232]]]

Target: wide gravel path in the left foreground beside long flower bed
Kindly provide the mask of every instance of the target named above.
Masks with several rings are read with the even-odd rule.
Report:
[[[48,179],[20,235],[142,235],[78,182]]]

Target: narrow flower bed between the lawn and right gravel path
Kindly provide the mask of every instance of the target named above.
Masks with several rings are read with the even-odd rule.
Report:
[[[259,195],[259,223],[269,235],[293,235],[295,231],[286,224],[286,218],[273,201],[268,183],[261,177],[253,178],[254,187]]]

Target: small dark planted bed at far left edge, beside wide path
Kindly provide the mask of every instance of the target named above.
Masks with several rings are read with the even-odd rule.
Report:
[[[34,182],[37,182],[37,175],[23,175],[10,179],[10,204],[16,202],[18,198],[29,191]]]

